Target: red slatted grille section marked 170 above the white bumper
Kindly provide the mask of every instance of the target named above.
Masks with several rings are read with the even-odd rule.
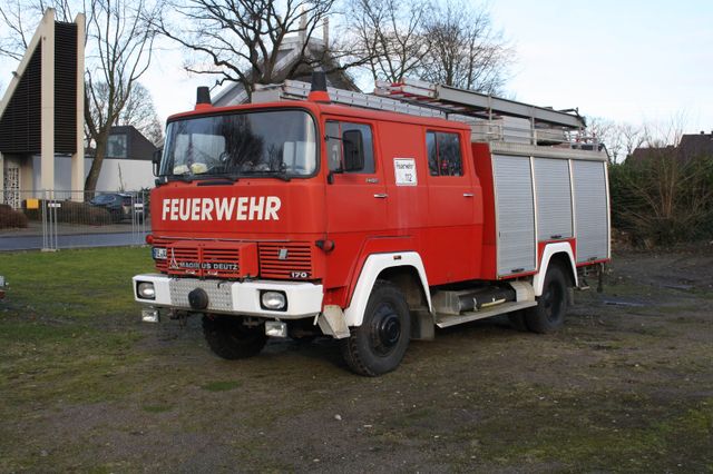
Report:
[[[260,275],[263,278],[309,279],[313,277],[309,243],[260,243]]]

